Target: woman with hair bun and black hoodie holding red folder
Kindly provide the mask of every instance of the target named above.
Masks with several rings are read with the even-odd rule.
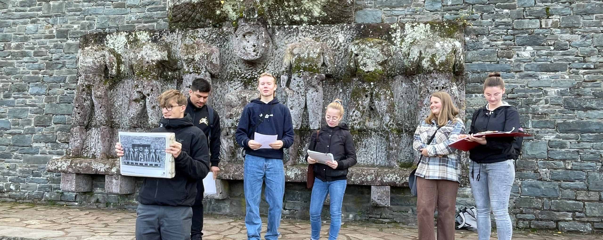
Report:
[[[469,139],[480,143],[470,150],[472,162],[471,189],[477,207],[478,238],[490,239],[490,211],[496,220],[498,239],[509,240],[513,235],[513,224],[509,217],[509,196],[515,179],[514,159],[519,152],[514,147],[514,138],[475,137],[485,131],[517,132],[519,112],[502,101],[505,81],[500,73],[490,73],[484,82],[484,96],[488,103],[473,112]],[[459,138],[466,137],[460,136]]]

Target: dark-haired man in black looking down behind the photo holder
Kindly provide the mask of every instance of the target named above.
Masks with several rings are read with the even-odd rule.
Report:
[[[211,153],[209,161],[212,164],[211,171],[213,179],[216,179],[220,168],[220,117],[211,106],[207,105],[209,94],[212,91],[212,85],[206,79],[197,78],[192,81],[191,90],[189,90],[188,105],[186,106],[186,114],[191,116],[193,124],[201,129],[207,136],[209,142],[209,152]],[[192,206],[192,226],[191,239],[201,240],[203,236],[203,180],[197,182],[197,198],[195,205]]]

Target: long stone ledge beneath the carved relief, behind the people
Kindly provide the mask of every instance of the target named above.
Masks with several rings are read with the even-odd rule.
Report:
[[[243,180],[243,162],[221,162],[218,179]],[[350,168],[347,183],[367,186],[408,186],[410,168],[364,167]],[[56,158],[46,166],[51,173],[81,173],[120,175],[119,159]],[[285,167],[286,182],[306,182],[308,165]]]

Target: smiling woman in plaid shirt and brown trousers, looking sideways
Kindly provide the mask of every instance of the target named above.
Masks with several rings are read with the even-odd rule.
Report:
[[[417,172],[418,239],[435,240],[434,212],[438,209],[438,240],[454,239],[456,191],[461,175],[461,153],[448,147],[465,134],[463,121],[450,94],[431,94],[431,114],[417,126],[412,147],[420,152]],[[434,136],[435,134],[435,136]],[[429,139],[434,136],[431,144]]]

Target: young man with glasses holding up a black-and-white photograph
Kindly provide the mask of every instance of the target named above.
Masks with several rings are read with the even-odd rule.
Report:
[[[177,90],[159,96],[163,118],[152,132],[174,132],[176,142],[165,150],[174,156],[175,176],[171,179],[145,177],[138,194],[136,239],[191,238],[191,206],[197,196],[197,182],[209,173],[207,138],[185,114],[186,97]],[[118,156],[124,156],[120,143]]]

